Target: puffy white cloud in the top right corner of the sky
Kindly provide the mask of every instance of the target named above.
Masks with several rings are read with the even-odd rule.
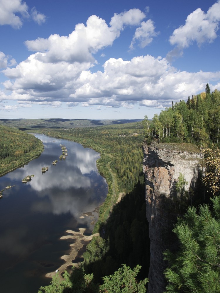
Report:
[[[181,25],[174,30],[170,36],[170,44],[176,45],[171,52],[167,54],[170,60],[172,56],[178,57],[182,55],[182,50],[189,47],[193,42],[197,42],[200,46],[204,42],[213,42],[217,38],[217,30],[219,29],[220,21],[220,0],[213,4],[207,13],[196,9],[187,16],[185,25]]]

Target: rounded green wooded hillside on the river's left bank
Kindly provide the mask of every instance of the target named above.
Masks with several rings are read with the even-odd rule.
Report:
[[[0,174],[39,156],[43,143],[32,134],[0,126]]]

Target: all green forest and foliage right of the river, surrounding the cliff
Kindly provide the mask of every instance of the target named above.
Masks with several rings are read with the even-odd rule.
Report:
[[[38,293],[146,292],[150,240],[144,199],[143,140],[196,144],[204,154],[206,176],[199,193],[206,190],[207,202],[188,207],[173,229],[179,247],[165,251],[165,292],[220,292],[220,92],[205,91],[165,108],[153,120],[77,127],[36,128],[36,132],[79,142],[101,154],[99,172],[108,183],[108,195],[99,209],[84,261],[71,273],[55,275]],[[182,174],[184,185],[184,174]],[[181,183],[181,182],[180,182]],[[181,184],[179,191],[184,192]],[[119,193],[123,193],[117,202]]]

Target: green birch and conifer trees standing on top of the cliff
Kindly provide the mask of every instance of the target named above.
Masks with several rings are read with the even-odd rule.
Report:
[[[145,116],[143,123],[145,135],[162,142],[192,142],[200,147],[219,144],[220,91],[210,93],[207,84],[204,92],[155,114],[150,124]]]

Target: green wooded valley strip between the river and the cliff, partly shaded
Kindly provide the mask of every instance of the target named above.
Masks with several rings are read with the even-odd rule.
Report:
[[[142,123],[39,131],[98,151],[101,158],[97,167],[109,187],[93,231],[101,236],[93,237],[87,246],[84,262],[73,268],[70,275],[65,273],[61,283],[55,276],[51,287],[43,287],[39,292],[53,292],[59,286],[57,292],[121,292],[122,288],[125,292],[145,292],[150,243],[142,172]],[[119,193],[126,196],[116,204]],[[116,283],[118,289],[110,289]],[[130,283],[133,285],[128,289]]]

